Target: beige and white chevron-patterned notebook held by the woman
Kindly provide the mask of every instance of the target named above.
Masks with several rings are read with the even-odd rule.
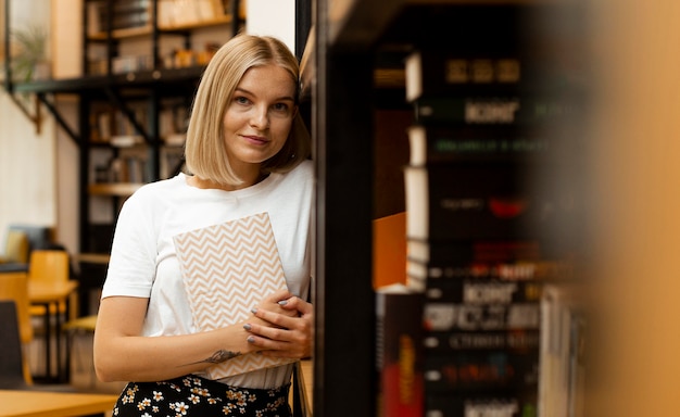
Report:
[[[260,213],[174,237],[193,320],[203,331],[247,319],[286,279],[269,215]],[[257,354],[207,368],[210,379],[295,362]]]

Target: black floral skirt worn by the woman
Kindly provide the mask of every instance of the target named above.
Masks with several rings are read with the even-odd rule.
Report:
[[[128,383],[114,416],[290,417],[290,384],[272,390],[238,388],[196,375],[161,382]]]

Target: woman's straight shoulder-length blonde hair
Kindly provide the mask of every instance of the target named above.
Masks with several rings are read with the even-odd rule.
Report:
[[[290,73],[300,96],[298,60],[280,40],[268,36],[240,34],[215,53],[203,73],[196,93],[187,130],[185,156],[189,173],[219,185],[240,185],[225,149],[223,119],[236,87],[253,66],[278,65]],[[263,173],[287,172],[310,155],[310,134],[295,112],[284,148],[262,163]]]

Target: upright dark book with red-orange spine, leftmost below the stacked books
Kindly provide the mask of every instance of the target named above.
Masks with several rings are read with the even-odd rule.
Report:
[[[403,283],[376,290],[379,416],[423,416],[423,300]]]

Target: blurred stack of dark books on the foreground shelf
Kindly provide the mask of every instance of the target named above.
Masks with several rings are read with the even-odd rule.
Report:
[[[405,74],[407,283],[377,291],[379,415],[536,416],[542,289],[574,275],[543,230],[569,237],[580,207],[533,178],[578,106],[512,53],[420,49]]]

